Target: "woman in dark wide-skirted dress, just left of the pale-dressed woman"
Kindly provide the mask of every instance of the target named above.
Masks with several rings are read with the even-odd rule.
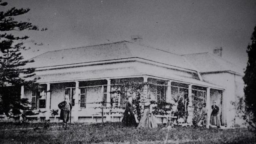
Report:
[[[124,124],[124,126],[137,126],[132,107],[132,97],[128,98],[128,102],[126,103],[122,124]]]

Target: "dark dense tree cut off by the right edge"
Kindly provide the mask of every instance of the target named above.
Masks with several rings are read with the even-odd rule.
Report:
[[[256,26],[251,36],[251,44],[247,46],[248,62],[243,81],[245,82],[245,119],[250,125],[256,124]]]

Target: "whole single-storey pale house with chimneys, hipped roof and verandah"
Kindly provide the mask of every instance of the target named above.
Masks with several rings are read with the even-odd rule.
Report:
[[[33,57],[35,77],[42,88],[21,88],[21,98],[33,102],[32,107],[46,113],[31,118],[56,120],[51,110],[68,96],[72,102],[72,122],[101,122],[101,107],[123,111],[128,96],[133,96],[124,83],[149,83],[141,96],[155,101],[174,104],[177,98],[188,100],[193,108],[196,100],[206,103],[208,124],[211,105],[217,102],[221,125],[231,127],[236,120],[236,110],[231,102],[243,96],[243,72],[221,57],[221,49],[214,53],[173,54],[140,44],[139,37],[129,41],[99,44],[79,48],[55,50]],[[119,91],[119,92],[113,92]],[[104,103],[102,103],[104,102]],[[114,108],[114,106],[116,106]],[[104,109],[109,111],[109,109]],[[191,109],[187,122],[191,123]],[[103,114],[109,120],[108,114]],[[121,113],[111,114],[111,121],[120,121]]]

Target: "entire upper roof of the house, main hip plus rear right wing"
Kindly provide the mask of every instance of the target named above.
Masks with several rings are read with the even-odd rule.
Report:
[[[210,53],[178,55],[128,41],[50,51],[33,57],[35,62],[26,66],[39,68],[127,58],[146,59],[201,73],[243,73],[236,65]]]

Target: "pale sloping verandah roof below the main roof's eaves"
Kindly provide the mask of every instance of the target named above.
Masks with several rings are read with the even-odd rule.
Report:
[[[202,87],[210,87],[214,89],[224,90],[224,87],[214,85],[208,83],[206,81],[200,81],[198,79],[187,78],[184,76],[161,76],[157,74],[150,74],[150,73],[141,73],[138,72],[136,69],[129,69],[129,68],[117,68],[116,73],[113,73],[113,70],[99,70],[99,71],[84,71],[84,72],[68,72],[68,73],[61,73],[61,74],[46,74],[41,75],[37,83],[61,83],[61,82],[71,82],[71,81],[89,81],[95,79],[117,79],[117,78],[134,78],[134,77],[143,77],[148,76],[149,78],[155,79],[163,79],[163,80],[171,80],[177,81],[180,83],[187,83],[192,85],[198,85]],[[105,75],[108,73],[107,75]]]

